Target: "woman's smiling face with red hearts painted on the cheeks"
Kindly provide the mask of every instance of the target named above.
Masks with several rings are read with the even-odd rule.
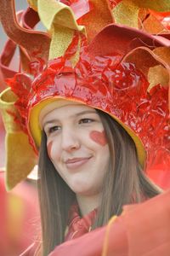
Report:
[[[77,195],[97,195],[110,152],[104,126],[94,108],[66,102],[42,118],[48,156]]]

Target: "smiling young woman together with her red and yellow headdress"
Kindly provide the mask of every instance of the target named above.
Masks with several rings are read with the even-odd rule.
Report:
[[[107,1],[99,1],[104,2],[106,9]],[[85,13],[77,18],[77,25],[71,9],[53,1],[48,4],[50,11],[46,1],[38,1],[38,14],[52,32],[50,61],[44,64],[43,59],[49,38],[43,34],[44,44],[40,44],[37,33],[39,39],[28,51],[34,79],[26,73],[8,79],[18,96],[14,100],[17,112],[5,109],[39,154],[42,238],[38,241],[41,249],[33,253],[43,256],[62,242],[107,224],[122,213],[123,205],[160,193],[144,168],[153,160],[154,150],[159,153],[159,148],[167,147],[168,117],[167,88],[160,86],[167,66],[151,50],[163,46],[161,41],[126,26],[105,26],[112,19],[107,8],[101,24],[98,20],[91,24],[94,31],[87,23],[88,40],[97,34],[88,44],[81,26]],[[89,22],[94,12],[88,11]],[[51,19],[46,20],[48,15]],[[30,47],[22,38],[21,33],[20,42]],[[157,68],[161,75],[150,79]],[[10,102],[10,90],[1,95],[7,98]],[[22,171],[18,180],[28,173],[26,168],[25,174]],[[31,249],[23,255],[33,255]]]

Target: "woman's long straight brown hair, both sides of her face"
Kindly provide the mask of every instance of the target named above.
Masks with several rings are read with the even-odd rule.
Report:
[[[112,215],[119,215],[124,204],[144,201],[159,194],[139,166],[133,139],[110,115],[96,110],[104,125],[111,153],[109,170],[94,228],[106,224]],[[42,251],[47,256],[64,241],[68,212],[76,195],[59,176],[48,158],[47,139],[42,131],[39,154],[38,191],[42,219]]]

